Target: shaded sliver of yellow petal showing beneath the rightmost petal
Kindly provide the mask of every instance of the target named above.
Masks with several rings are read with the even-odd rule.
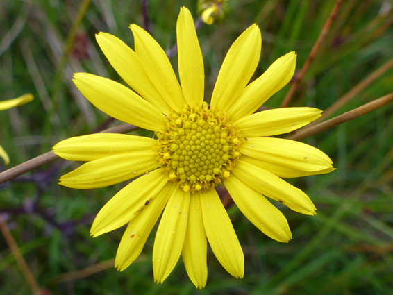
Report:
[[[256,158],[247,157],[246,155],[242,155],[242,161],[249,162],[252,165],[265,169],[271,172],[272,174],[282,178],[294,178],[294,177],[303,177],[303,176],[309,176],[315,174],[327,174],[330,173],[331,171],[335,171],[335,168],[326,168],[319,171],[301,171],[299,169],[294,169],[287,166],[258,160]]]

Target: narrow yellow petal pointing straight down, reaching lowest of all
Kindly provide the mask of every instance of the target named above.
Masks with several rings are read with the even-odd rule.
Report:
[[[208,241],[201,212],[199,193],[192,194],[188,212],[187,231],[183,246],[183,262],[185,270],[195,287],[202,289],[208,279]]]

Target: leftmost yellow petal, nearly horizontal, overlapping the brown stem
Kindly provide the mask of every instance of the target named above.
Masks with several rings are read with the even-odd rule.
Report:
[[[69,161],[92,161],[112,155],[151,151],[156,140],[144,136],[99,133],[62,140],[53,152]]]

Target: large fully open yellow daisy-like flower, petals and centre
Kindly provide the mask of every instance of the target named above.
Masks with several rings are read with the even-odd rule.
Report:
[[[103,112],[153,130],[157,139],[94,134],[53,147],[67,160],[87,161],[60,178],[78,189],[106,187],[135,178],[103,206],[93,237],[128,223],[115,267],[126,269],[142,252],[163,211],[153,246],[154,280],[162,283],[180,255],[192,283],[207,278],[207,241],[232,276],[244,276],[244,255],[231,220],[215,190],[224,184],[244,215],[279,242],[292,239],[283,214],[265,196],[296,212],[315,214],[312,201],[281,179],[333,171],[327,155],[312,146],[271,138],[321,115],[315,108],[254,112],[284,87],[295,69],[294,52],[278,58],[247,85],[259,62],[261,35],[255,24],[235,40],[219,71],[210,106],[203,102],[202,53],[190,11],[181,8],[176,25],[179,85],[160,45],[132,24],[135,51],[108,33],[97,42],[120,76],[133,88],[78,73],[74,83]]]

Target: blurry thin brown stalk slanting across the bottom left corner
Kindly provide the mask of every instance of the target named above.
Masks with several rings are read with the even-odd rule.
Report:
[[[4,239],[6,239],[8,247],[10,247],[12,254],[15,256],[15,260],[17,260],[17,264],[22,269],[22,273],[24,275],[24,278],[26,278],[26,281],[31,289],[31,292],[34,295],[40,295],[41,294],[40,288],[35,282],[33,274],[28,268],[27,263],[24,260],[22,253],[20,253],[17,243],[15,242],[15,239],[12,237],[10,230],[8,229],[8,226],[6,224],[6,221],[4,221],[3,216],[1,214],[0,214],[0,230],[1,233],[3,233]]]

